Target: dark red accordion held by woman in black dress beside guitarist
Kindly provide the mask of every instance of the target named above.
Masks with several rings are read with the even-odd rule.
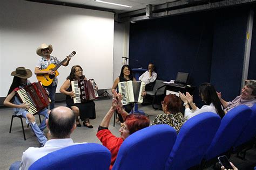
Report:
[[[76,95],[73,98],[74,103],[83,103],[99,97],[97,90],[95,90],[96,83],[93,79],[71,81],[71,87]]]

